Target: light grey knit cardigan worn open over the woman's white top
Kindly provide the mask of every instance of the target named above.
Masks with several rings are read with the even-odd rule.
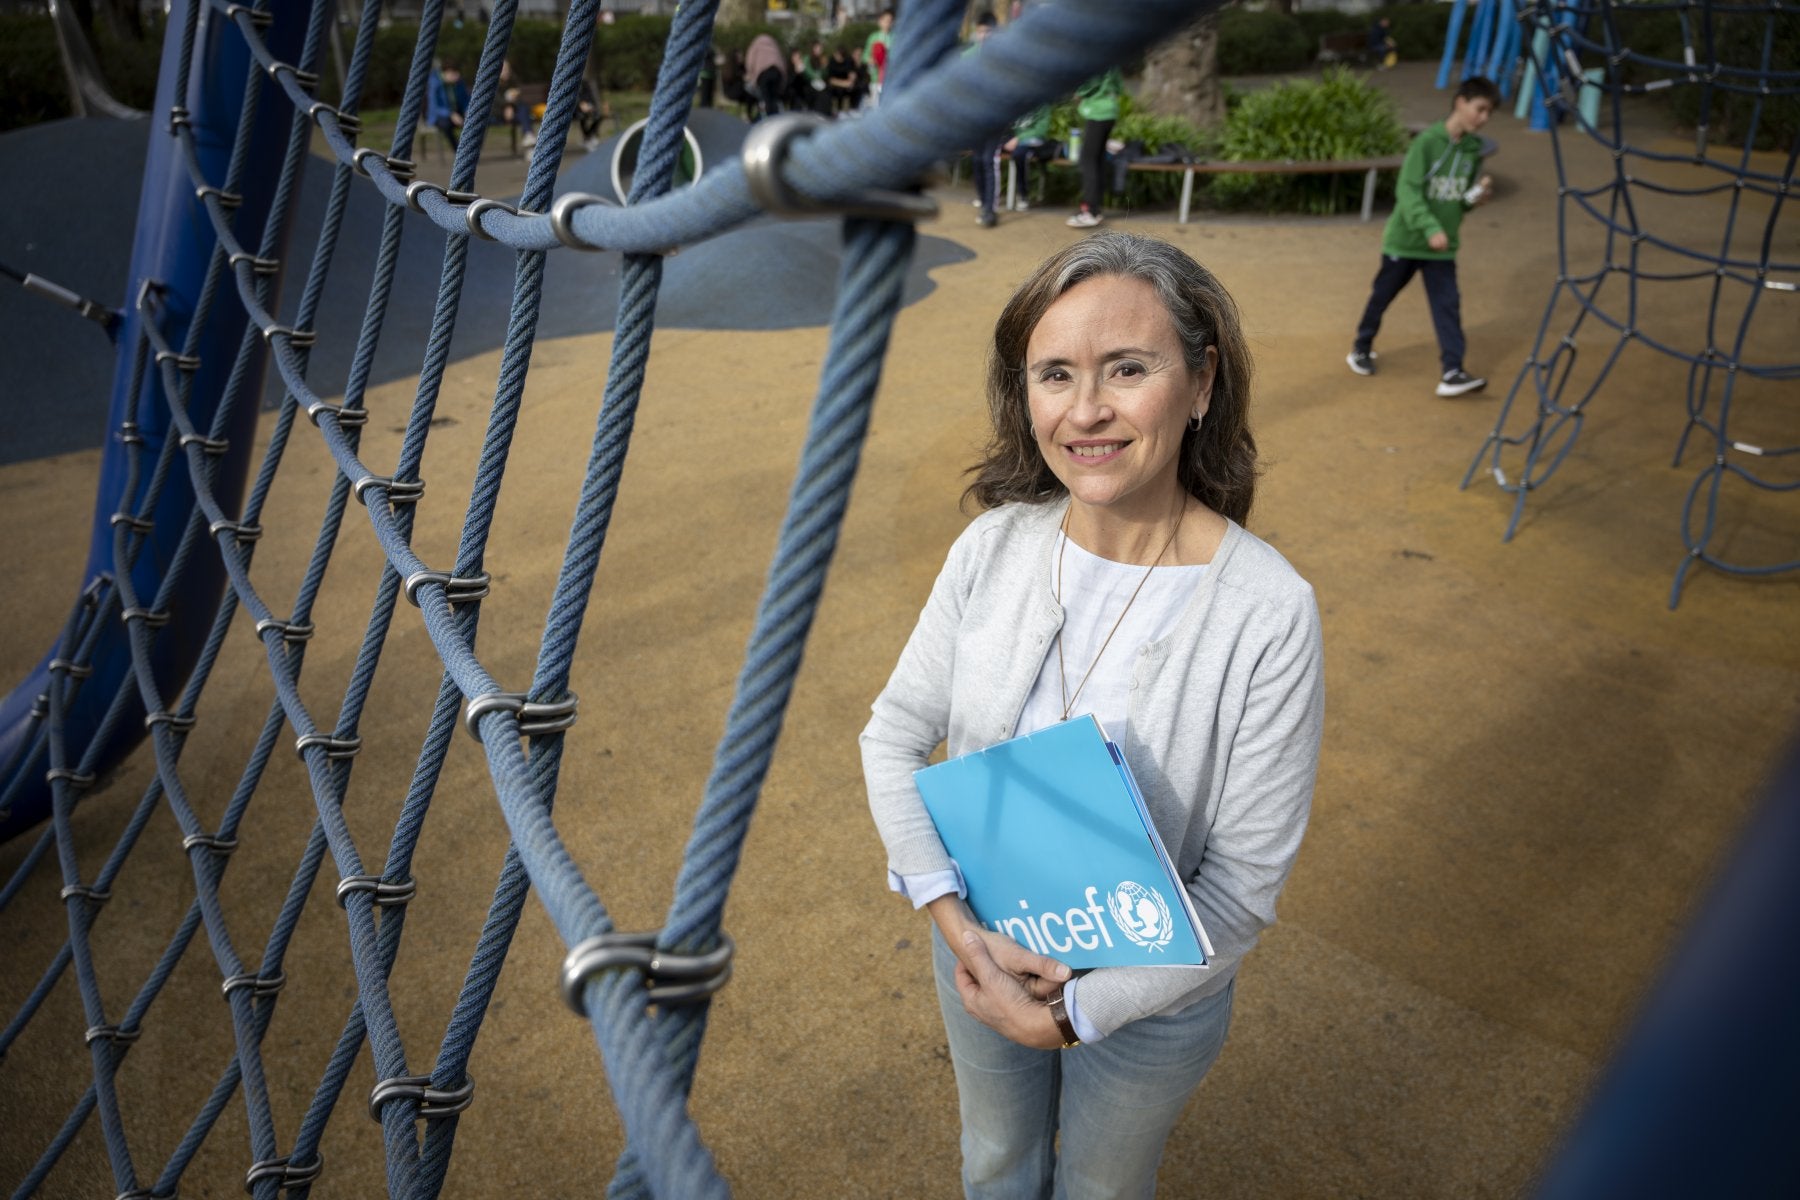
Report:
[[[875,700],[862,772],[896,874],[950,867],[913,772],[941,741],[954,757],[1013,736],[1062,628],[1049,558],[1064,507],[1010,504],[970,522]],[[1102,1033],[1222,990],[1274,923],[1312,804],[1323,723],[1312,588],[1229,522],[1175,630],[1138,651],[1121,745],[1215,954],[1206,968],[1087,973],[1082,1015]]]

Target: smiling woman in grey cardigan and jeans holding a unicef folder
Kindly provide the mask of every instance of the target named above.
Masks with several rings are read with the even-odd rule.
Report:
[[[1323,723],[1312,590],[1246,533],[1256,450],[1231,299],[1181,250],[1102,234],[994,327],[992,437],[862,732],[889,885],[932,918],[968,1196],[1150,1196],[1219,1056],[1233,975],[1300,849]],[[913,772],[1093,712],[1213,943],[1204,968],[1071,977],[981,928]]]

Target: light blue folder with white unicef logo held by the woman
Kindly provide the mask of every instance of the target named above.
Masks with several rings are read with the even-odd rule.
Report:
[[[1093,716],[913,779],[988,928],[1076,970],[1206,964],[1188,889]]]

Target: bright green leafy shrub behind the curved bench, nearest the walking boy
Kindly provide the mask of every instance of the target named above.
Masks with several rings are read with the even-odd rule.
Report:
[[[1406,148],[1393,101],[1355,72],[1289,79],[1247,94],[1226,119],[1226,162],[1330,162],[1395,155]],[[1269,212],[1336,212],[1361,203],[1359,189],[1334,175],[1219,175],[1211,198],[1226,207]]]

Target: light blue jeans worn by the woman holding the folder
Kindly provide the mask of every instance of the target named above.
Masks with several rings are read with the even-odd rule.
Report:
[[[1093,1045],[1033,1051],[963,1011],[956,957],[936,927],[931,941],[963,1115],[963,1193],[970,1200],[1152,1196],[1163,1142],[1226,1043],[1235,982]]]

